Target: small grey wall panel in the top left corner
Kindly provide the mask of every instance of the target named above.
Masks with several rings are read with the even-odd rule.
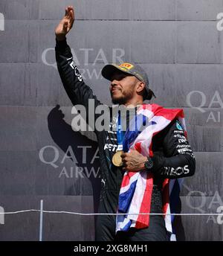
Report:
[[[49,2],[49,1],[48,1]],[[39,0],[1,0],[0,11],[5,19],[38,19]]]

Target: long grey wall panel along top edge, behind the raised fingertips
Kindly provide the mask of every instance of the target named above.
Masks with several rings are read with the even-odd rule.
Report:
[[[59,19],[71,5],[68,0],[53,2],[49,8],[47,1],[40,0],[40,19]],[[175,20],[175,0],[76,0],[72,4],[76,19]]]

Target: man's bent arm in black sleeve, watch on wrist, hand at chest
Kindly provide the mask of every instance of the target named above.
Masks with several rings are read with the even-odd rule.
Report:
[[[168,179],[177,179],[185,176],[193,176],[195,173],[195,157],[190,148],[190,144],[184,135],[184,130],[180,128],[178,121],[172,121],[158,138],[163,141],[164,155],[154,153],[152,168],[146,169],[144,166],[146,156],[132,150],[130,153],[123,153],[123,170],[148,170]],[[157,135],[156,135],[157,136]],[[154,142],[154,141],[153,141]]]

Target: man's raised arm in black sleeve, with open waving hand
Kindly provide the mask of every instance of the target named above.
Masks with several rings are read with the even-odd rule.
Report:
[[[83,77],[74,63],[71,48],[66,42],[65,36],[71,30],[73,24],[74,8],[69,6],[65,10],[65,16],[55,29],[56,63],[62,84],[71,102],[74,105],[83,104],[88,110],[88,99],[94,100],[94,107],[98,106],[100,101],[97,100],[91,88],[84,83]]]

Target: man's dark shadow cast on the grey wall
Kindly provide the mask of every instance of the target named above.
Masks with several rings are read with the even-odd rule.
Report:
[[[54,109],[51,110],[51,112],[48,115],[48,129],[51,133],[51,137],[53,138],[54,142],[60,147],[60,149],[66,153],[68,150],[68,147],[70,146],[74,152],[74,155],[77,158],[77,161],[79,164],[74,164],[74,166],[77,167],[87,167],[88,170],[91,169],[93,166],[88,161],[86,164],[82,163],[82,153],[80,148],[77,148],[77,146],[89,146],[91,145],[92,150],[92,156],[94,156],[94,153],[97,150],[97,142],[91,141],[89,138],[82,135],[80,132],[74,132],[74,130],[71,128],[71,125],[67,124],[64,121],[65,115],[62,113],[62,110],[59,109],[59,105],[54,107]],[[90,151],[89,150],[89,151]],[[74,161],[74,159],[71,160]],[[94,161],[94,169],[97,170],[100,166],[99,160],[95,159]],[[95,178],[93,175],[86,175],[85,168],[83,168],[83,174],[90,180],[91,187],[93,189],[93,197],[94,197],[94,212],[97,212],[98,205],[99,205],[99,199],[100,199],[100,179]],[[100,173],[98,173],[99,175]],[[75,191],[75,187],[72,186],[68,190],[68,194],[66,195],[77,195],[77,191]],[[80,195],[80,192],[79,194]]]

